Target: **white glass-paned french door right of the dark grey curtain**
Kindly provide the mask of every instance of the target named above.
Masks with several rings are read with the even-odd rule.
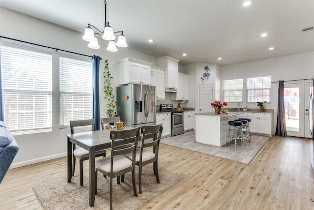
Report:
[[[285,120],[288,136],[312,138],[312,82],[285,84]]]

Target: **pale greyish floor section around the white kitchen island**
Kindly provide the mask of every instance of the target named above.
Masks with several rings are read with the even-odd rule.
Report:
[[[181,135],[161,139],[160,142],[187,150],[198,151],[245,164],[251,164],[266,145],[268,139],[269,136],[252,135],[251,145],[245,138],[247,143],[246,148],[244,147],[244,144],[242,144],[242,146],[238,144],[235,150],[235,144],[231,142],[228,142],[227,147],[215,147],[197,143],[195,142],[195,131],[189,131]]]

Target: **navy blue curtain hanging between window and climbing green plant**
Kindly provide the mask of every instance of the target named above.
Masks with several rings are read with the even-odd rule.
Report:
[[[99,56],[93,56],[93,119],[95,119],[94,129],[99,130],[100,108],[99,108]]]

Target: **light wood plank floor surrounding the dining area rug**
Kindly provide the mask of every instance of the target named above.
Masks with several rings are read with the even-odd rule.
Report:
[[[140,209],[313,210],[310,149],[310,139],[273,136],[247,165],[161,144],[159,167],[184,179]],[[0,209],[41,209],[32,188],[65,177],[66,168],[62,157],[9,170],[0,184]]]

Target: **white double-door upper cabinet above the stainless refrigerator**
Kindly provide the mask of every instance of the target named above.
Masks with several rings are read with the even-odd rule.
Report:
[[[153,63],[126,58],[118,61],[119,84],[151,85],[151,65]]]

